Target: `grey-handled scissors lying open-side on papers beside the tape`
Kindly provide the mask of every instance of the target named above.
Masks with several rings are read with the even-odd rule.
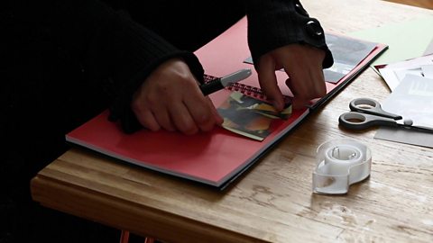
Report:
[[[358,98],[349,103],[352,112],[345,112],[340,115],[338,121],[340,125],[350,130],[364,130],[373,126],[403,127],[408,129],[428,131],[433,133],[433,129],[427,127],[414,127],[413,121],[399,120],[401,115],[385,112],[380,103],[369,98]]]

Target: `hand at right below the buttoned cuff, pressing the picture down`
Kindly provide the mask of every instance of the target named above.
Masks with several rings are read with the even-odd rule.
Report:
[[[275,109],[284,106],[275,70],[284,68],[290,77],[286,81],[293,93],[293,107],[308,104],[311,99],[327,94],[322,70],[325,51],[311,46],[290,44],[274,49],[259,59],[258,76],[263,92],[273,101]]]

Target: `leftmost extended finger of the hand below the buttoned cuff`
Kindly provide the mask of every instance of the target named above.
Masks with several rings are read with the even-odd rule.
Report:
[[[259,60],[258,65],[259,84],[264,94],[272,100],[273,106],[277,111],[284,107],[281,90],[278,87],[277,77],[275,76],[275,62],[271,56],[264,55]]]

